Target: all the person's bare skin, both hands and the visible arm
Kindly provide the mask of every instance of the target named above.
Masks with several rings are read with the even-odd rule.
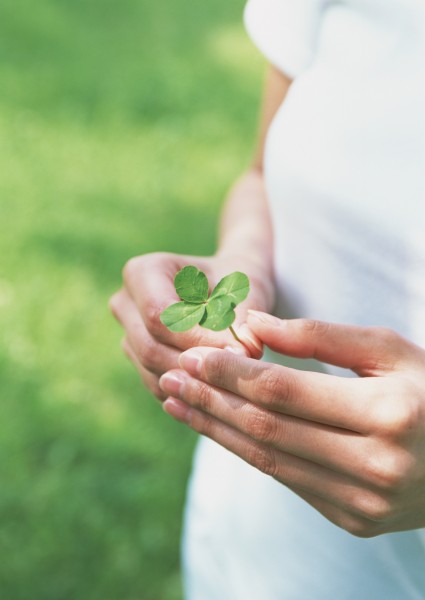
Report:
[[[361,536],[425,527],[425,351],[383,328],[271,317],[273,236],[263,180],[264,139],[291,81],[270,67],[258,151],[223,209],[217,253],[131,259],[111,299],[123,349],[175,419],[293,489]],[[245,272],[241,346],[229,332],[175,334],[159,320],[183,266],[212,285]],[[255,309],[255,312],[248,312]],[[258,312],[260,311],[260,312]],[[262,346],[351,369],[337,377],[258,362]]]

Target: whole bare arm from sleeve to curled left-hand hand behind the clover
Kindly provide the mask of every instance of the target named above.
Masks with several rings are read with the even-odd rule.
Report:
[[[251,168],[231,190],[223,209],[217,253],[212,257],[155,253],[138,256],[124,267],[124,284],[111,299],[111,310],[125,331],[123,350],[138,369],[145,385],[158,398],[164,393],[159,377],[178,366],[182,350],[208,345],[239,346],[228,332],[212,333],[202,327],[176,334],[159,320],[162,310],[176,301],[173,279],[182,267],[202,269],[214,285],[232,270],[244,271],[252,281],[252,293],[238,310],[236,326],[246,310],[270,310],[273,303],[271,225],[263,184],[264,139],[291,81],[270,68],[264,93],[258,149]],[[242,334],[251,356],[262,352],[261,342],[245,327]]]

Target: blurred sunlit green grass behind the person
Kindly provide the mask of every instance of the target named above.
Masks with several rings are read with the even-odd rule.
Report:
[[[0,3],[0,597],[179,600],[195,437],[123,358],[131,256],[208,254],[249,160],[243,1]]]

